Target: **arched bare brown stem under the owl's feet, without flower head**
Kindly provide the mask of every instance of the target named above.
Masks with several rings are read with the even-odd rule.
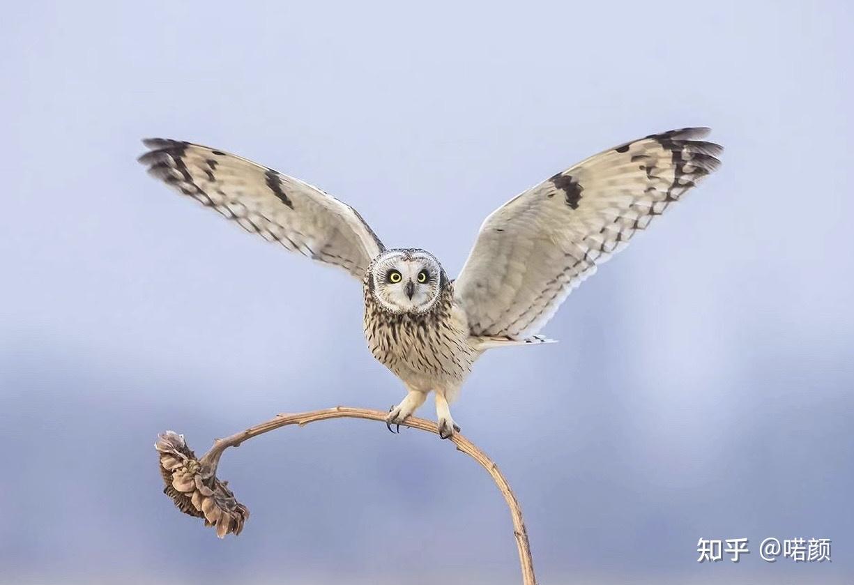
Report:
[[[388,412],[353,407],[334,407],[325,408],[324,410],[299,412],[297,414],[279,414],[276,418],[272,418],[271,420],[261,424],[256,424],[253,427],[249,427],[247,430],[242,430],[232,436],[225,437],[225,439],[217,439],[213,443],[213,447],[210,451],[205,453],[199,462],[208,467],[208,469],[216,469],[217,465],[219,465],[219,458],[222,456],[222,453],[225,452],[225,449],[237,447],[242,442],[247,441],[254,436],[263,435],[266,432],[276,430],[283,426],[288,426],[289,424],[298,424],[303,426],[304,424],[314,423],[319,420],[329,420],[331,418],[366,418],[367,420],[378,420],[384,422],[387,416]],[[436,435],[439,434],[439,429],[436,423],[424,418],[409,417],[404,424],[412,429],[426,430],[427,432],[435,433]],[[486,453],[483,453],[483,451],[477,448],[471,441],[466,439],[464,436],[459,435],[459,433],[453,435],[451,437],[451,441],[456,445],[458,451],[462,451],[471,457],[471,459],[476,460],[477,463],[479,463],[483,469],[492,476],[495,485],[498,486],[501,495],[504,496],[504,500],[507,502],[507,507],[510,508],[510,515],[513,519],[513,534],[516,536],[519,564],[522,566],[522,582],[524,585],[536,585],[534,562],[531,559],[531,549],[528,542],[528,531],[525,529],[524,519],[522,518],[522,508],[519,506],[516,496],[513,495],[510,484],[508,484],[505,477],[501,475],[498,465],[495,465],[494,461],[489,459]]]

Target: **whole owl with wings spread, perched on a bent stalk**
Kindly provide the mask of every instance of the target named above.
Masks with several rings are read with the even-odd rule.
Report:
[[[525,190],[481,225],[456,280],[423,249],[387,249],[354,208],[298,178],[207,146],[153,138],[149,173],[269,242],[359,278],[365,338],[406,397],[406,422],[430,391],[439,436],[459,432],[450,403],[491,348],[535,345],[571,290],[714,171],[708,128],[652,134],[605,150]]]

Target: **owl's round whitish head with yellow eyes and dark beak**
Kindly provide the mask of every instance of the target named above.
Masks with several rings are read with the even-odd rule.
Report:
[[[374,260],[367,285],[386,311],[424,313],[439,300],[447,276],[433,254],[393,249]]]

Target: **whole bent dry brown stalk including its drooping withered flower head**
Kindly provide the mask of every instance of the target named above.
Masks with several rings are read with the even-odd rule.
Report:
[[[162,433],[155,443],[155,448],[160,453],[161,474],[166,483],[166,488],[163,491],[174,500],[181,512],[204,518],[206,526],[215,526],[220,538],[229,533],[240,534],[243,524],[249,518],[249,510],[237,502],[234,494],[228,488],[228,483],[216,477],[219,458],[225,449],[237,447],[254,436],[263,435],[289,424],[303,426],[331,418],[364,418],[384,422],[386,416],[388,416],[388,412],[352,407],[334,407],[297,414],[279,414],[276,418],[256,424],[247,430],[225,437],[225,439],[217,439],[213,442],[213,447],[208,453],[202,455],[200,459],[196,459],[195,453],[187,447],[183,435],[178,435],[178,433],[169,430]],[[412,429],[439,434],[436,423],[424,418],[409,417],[404,425]],[[451,437],[451,441],[456,445],[458,451],[462,451],[471,459],[475,459],[488,472],[495,485],[498,486],[501,495],[504,496],[513,521],[513,535],[516,537],[519,564],[522,567],[522,582],[524,585],[536,585],[528,532],[522,518],[522,509],[516,500],[516,496],[513,495],[510,484],[501,475],[498,465],[495,465],[494,461],[489,459],[486,453],[483,453],[471,441],[459,433]]]

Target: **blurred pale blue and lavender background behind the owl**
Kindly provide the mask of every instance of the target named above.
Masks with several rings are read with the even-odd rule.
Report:
[[[403,388],[359,283],[147,177],[140,138],[317,184],[453,275],[519,191],[693,125],[722,169],[570,295],[559,344],[478,362],[454,417],[516,490],[543,584],[854,578],[850,3],[3,11],[0,582],[520,581],[488,475],[414,430],[226,453],[237,538],[161,494],[161,430],[201,453]],[[766,563],[769,536],[830,538],[833,562]],[[699,565],[700,537],[751,553]]]

